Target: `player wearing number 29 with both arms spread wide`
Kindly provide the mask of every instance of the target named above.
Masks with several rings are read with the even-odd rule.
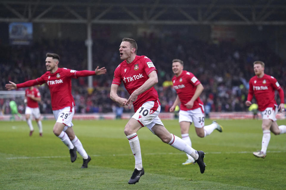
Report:
[[[28,80],[24,83],[15,84],[10,82],[5,87],[8,90],[23,88],[46,83],[50,89],[52,110],[56,119],[53,128],[54,134],[60,138],[63,143],[69,148],[71,162],[77,159],[77,152],[83,157],[83,165],[81,168],[87,168],[88,162],[91,160],[87,155],[80,140],[75,136],[72,128],[72,117],[74,116],[74,98],[71,95],[71,78],[87,77],[91,75],[105,74],[106,69],[102,67],[95,71],[76,71],[68,68],[59,68],[59,55],[55,53],[46,54],[47,72],[35,80]],[[76,152],[77,151],[77,152]]]

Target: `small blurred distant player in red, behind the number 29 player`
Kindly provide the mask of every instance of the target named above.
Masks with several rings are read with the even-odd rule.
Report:
[[[25,90],[24,102],[27,103],[26,110],[25,110],[25,117],[26,117],[27,124],[30,128],[30,134],[29,134],[30,136],[32,136],[34,132],[31,115],[34,116],[38,124],[40,136],[43,136],[43,127],[42,127],[42,122],[40,120],[41,114],[40,114],[40,109],[38,105],[38,102],[40,101],[41,101],[41,94],[38,88],[34,88],[33,86],[30,86],[29,88]]]

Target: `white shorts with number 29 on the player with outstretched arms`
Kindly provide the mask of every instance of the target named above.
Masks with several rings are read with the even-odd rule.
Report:
[[[66,126],[63,128],[63,131],[66,131],[68,127],[74,126],[72,124],[72,117],[74,116],[74,107],[72,108],[72,111],[70,112],[71,108],[65,107],[60,110],[53,110],[54,117],[56,119],[56,122],[65,124]]]

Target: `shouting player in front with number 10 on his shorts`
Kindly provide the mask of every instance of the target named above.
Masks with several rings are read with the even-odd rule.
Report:
[[[110,91],[110,98],[114,102],[118,102],[122,106],[128,105],[129,108],[133,104],[135,111],[135,114],[124,128],[124,133],[135,157],[135,169],[128,183],[135,184],[144,175],[140,143],[137,136],[137,131],[144,126],[164,143],[168,143],[172,147],[191,155],[198,163],[200,172],[203,173],[206,167],[203,162],[204,152],[196,151],[181,138],[170,134],[158,117],[161,106],[158,93],[153,87],[158,82],[157,69],[148,57],[138,56],[136,51],[137,44],[135,40],[130,38],[122,39],[119,53],[123,62],[114,71]],[[128,99],[117,95],[117,90],[122,81],[130,94]]]

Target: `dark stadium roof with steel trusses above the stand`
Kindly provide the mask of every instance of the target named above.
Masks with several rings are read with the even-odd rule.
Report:
[[[286,25],[285,0],[0,0],[0,22]]]

